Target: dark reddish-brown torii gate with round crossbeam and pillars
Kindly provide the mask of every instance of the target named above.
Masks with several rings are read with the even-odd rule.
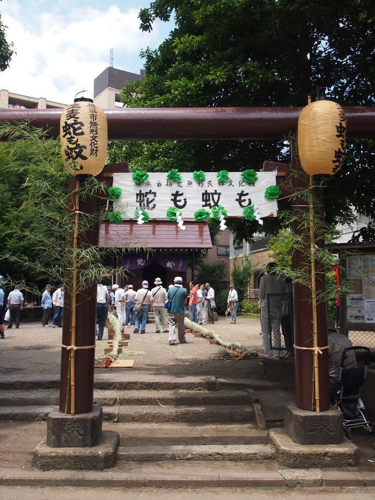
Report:
[[[290,131],[295,131],[301,109],[302,107],[128,108],[105,109],[104,113],[110,140],[264,140],[280,139]],[[347,118],[348,138],[375,138],[375,107],[343,109]],[[0,121],[17,123],[28,120],[34,126],[48,129],[48,134],[57,138],[61,112],[61,109],[5,109],[0,110]],[[301,252],[294,253],[293,263],[297,265],[301,259],[298,253]],[[84,304],[85,317],[95,314],[95,292],[93,291],[91,295],[93,296]],[[294,296],[302,298],[298,301],[298,306],[294,307],[294,332],[297,345],[309,345],[309,325],[312,320],[309,295],[306,286],[294,284]],[[318,307],[317,325],[318,345],[326,345],[324,306]],[[79,335],[84,335],[80,329],[77,324],[77,345],[79,345]],[[82,345],[87,343],[83,341]],[[82,356],[92,357],[92,361],[88,360],[85,363],[85,376],[78,377],[76,382],[76,412],[85,413],[92,409],[94,353],[92,349],[80,352]],[[301,410],[311,409],[312,359],[313,356],[308,351],[297,349],[295,352],[296,406]],[[329,408],[326,350],[320,355],[319,361],[320,409],[324,411]]]

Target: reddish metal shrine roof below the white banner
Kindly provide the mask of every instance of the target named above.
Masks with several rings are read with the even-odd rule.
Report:
[[[132,246],[135,248],[212,248],[207,224],[184,222],[185,230],[175,222],[152,221],[144,224],[123,221],[119,224],[104,222],[100,225],[99,246]]]

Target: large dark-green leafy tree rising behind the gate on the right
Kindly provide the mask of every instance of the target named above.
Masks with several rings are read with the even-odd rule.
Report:
[[[314,89],[343,106],[374,103],[372,0],[155,0],[140,11],[140,28],[150,31],[155,19],[172,15],[169,37],[141,52],[146,74],[123,88],[124,106],[301,106]],[[259,170],[264,160],[288,161],[281,139],[116,142],[109,157],[149,171]],[[374,141],[348,144],[326,188],[328,222],[350,220],[350,205],[375,216],[374,161]],[[256,230],[247,221],[231,225],[238,239]],[[375,238],[373,227],[365,237]]]

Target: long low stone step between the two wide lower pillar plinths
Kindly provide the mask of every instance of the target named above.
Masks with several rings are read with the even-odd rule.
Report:
[[[186,446],[119,446],[117,460],[270,460],[268,444],[208,444]]]

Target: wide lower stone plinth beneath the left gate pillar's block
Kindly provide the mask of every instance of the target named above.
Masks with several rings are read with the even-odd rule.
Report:
[[[32,466],[40,470],[102,470],[113,467],[119,435],[110,430],[101,433],[98,444],[91,447],[51,447],[45,440],[34,449]]]

